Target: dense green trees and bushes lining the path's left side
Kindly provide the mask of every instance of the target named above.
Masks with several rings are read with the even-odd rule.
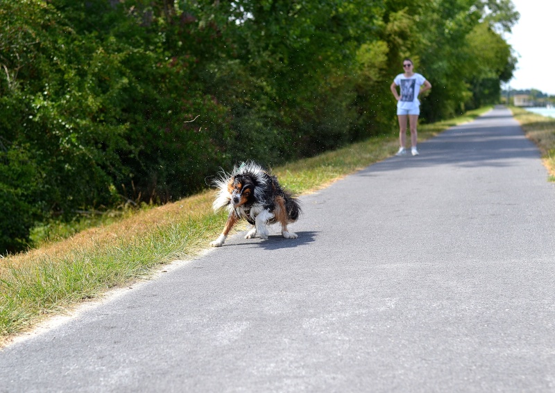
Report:
[[[37,222],[164,203],[220,166],[275,166],[490,103],[515,67],[509,0],[4,0],[0,250]],[[488,51],[484,51],[484,48]]]

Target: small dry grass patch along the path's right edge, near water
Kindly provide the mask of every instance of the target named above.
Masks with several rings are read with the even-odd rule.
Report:
[[[519,107],[511,107],[511,112],[527,138],[540,149],[543,164],[549,171],[549,181],[555,182],[555,119]]]

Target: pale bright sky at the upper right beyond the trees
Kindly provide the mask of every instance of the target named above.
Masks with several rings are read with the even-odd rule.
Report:
[[[512,1],[520,19],[505,35],[518,55],[509,87],[555,96],[555,0]]]

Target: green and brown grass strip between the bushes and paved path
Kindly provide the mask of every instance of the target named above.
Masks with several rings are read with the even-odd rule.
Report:
[[[421,125],[419,139],[472,121],[490,108],[450,121]],[[280,182],[302,194],[323,189],[393,155],[396,132],[273,168]],[[213,191],[143,209],[40,248],[0,260],[0,347],[49,315],[71,311],[110,288],[148,278],[160,265],[189,259],[221,232],[225,213],[212,213]]]

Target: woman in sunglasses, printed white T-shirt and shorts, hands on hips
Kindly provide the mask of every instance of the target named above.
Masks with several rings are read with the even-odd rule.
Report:
[[[418,115],[420,114],[420,101],[418,95],[423,91],[432,89],[432,85],[420,73],[413,70],[414,64],[410,59],[403,60],[404,73],[400,73],[391,83],[391,92],[397,100],[397,116],[399,118],[399,142],[401,147],[397,155],[407,154],[404,149],[407,139],[407,118],[411,130],[411,152],[412,155],[418,155],[416,150],[416,125],[418,124]],[[397,92],[397,87],[401,87],[401,94]]]

